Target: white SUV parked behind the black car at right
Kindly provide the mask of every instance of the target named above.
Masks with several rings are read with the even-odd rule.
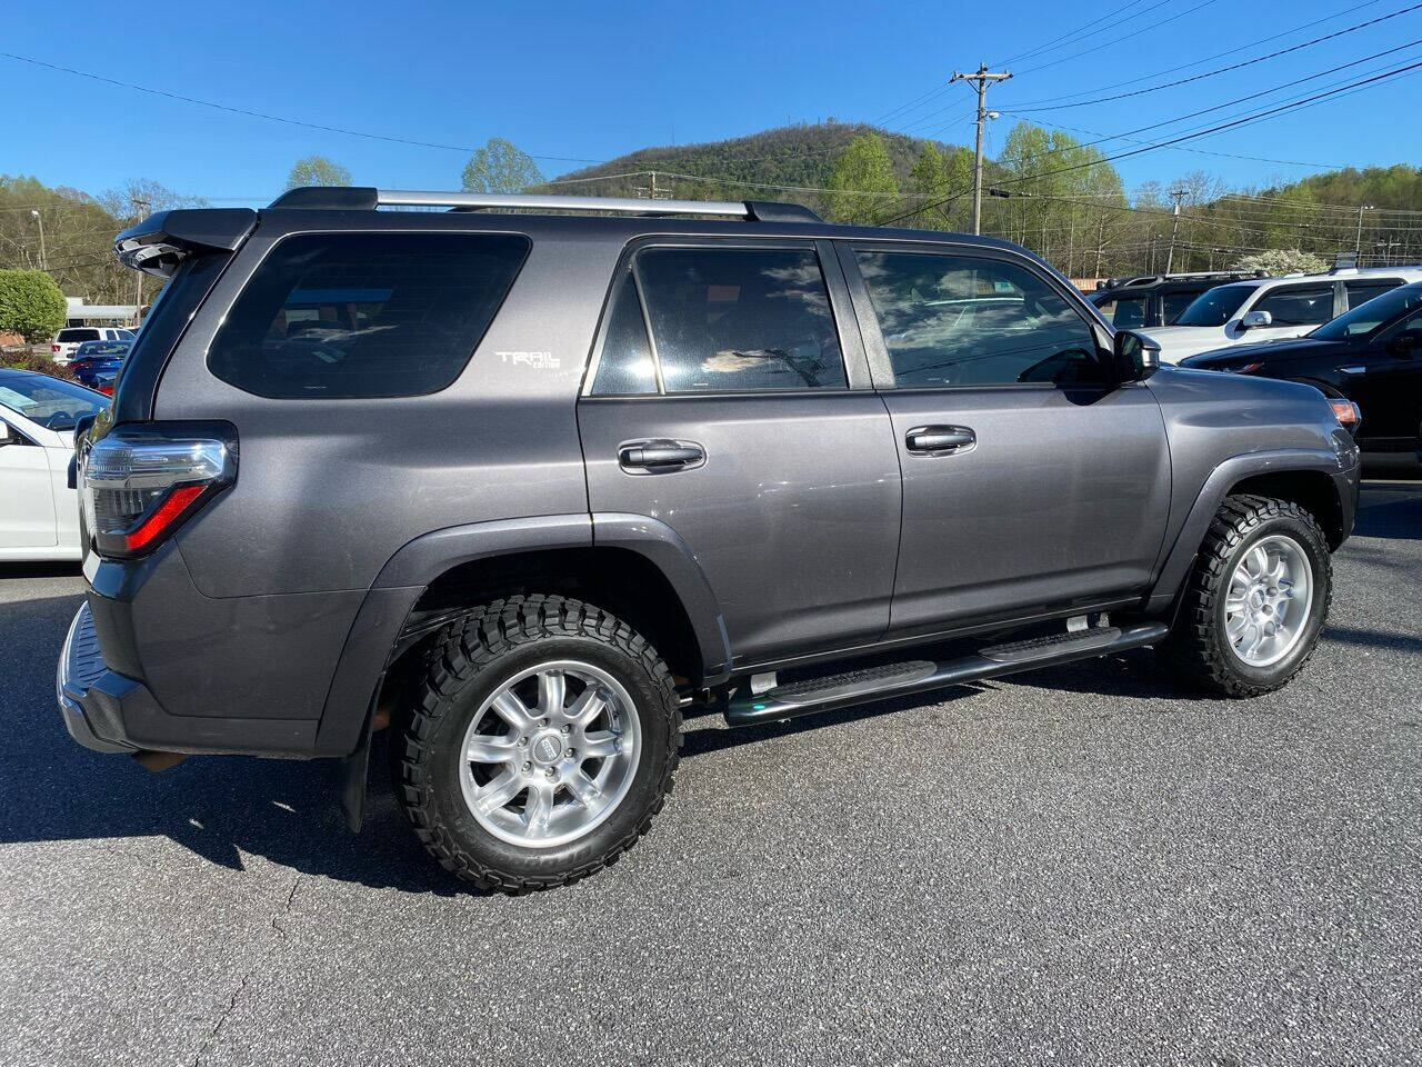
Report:
[[[1234,344],[1303,337],[1348,309],[1409,282],[1422,282],[1422,270],[1367,267],[1231,282],[1197,296],[1175,326],[1146,333],[1160,344],[1163,361],[1179,363]]]

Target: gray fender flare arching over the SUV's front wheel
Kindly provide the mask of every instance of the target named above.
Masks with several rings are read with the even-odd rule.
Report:
[[[1165,555],[1165,562],[1160,565],[1156,582],[1148,595],[1146,610],[1150,613],[1163,612],[1175,602],[1200,545],[1204,542],[1204,534],[1209,531],[1214,514],[1236,484],[1260,474],[1294,471],[1317,471],[1332,479],[1344,514],[1344,529],[1349,529],[1352,526],[1351,487],[1357,484],[1358,468],[1357,465],[1344,467],[1337,452],[1327,448],[1276,448],[1230,457],[1204,479],[1204,485],[1186,515],[1185,525],[1180,526],[1175,543]]]

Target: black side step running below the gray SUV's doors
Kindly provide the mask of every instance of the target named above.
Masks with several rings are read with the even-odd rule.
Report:
[[[775,721],[811,711],[886,700],[904,693],[923,693],[964,681],[1000,677],[1020,670],[1052,667],[1058,663],[1155,644],[1169,630],[1169,626],[1159,622],[1126,627],[1103,626],[1055,637],[997,644],[943,663],[912,660],[796,681],[758,696],[737,693],[727,704],[725,721],[729,726]]]

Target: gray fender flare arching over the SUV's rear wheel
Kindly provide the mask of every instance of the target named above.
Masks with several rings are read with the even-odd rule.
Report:
[[[313,755],[358,753],[390,650],[435,578],[475,559],[594,546],[637,552],[661,572],[691,622],[704,683],[724,681],[731,670],[725,620],[701,565],[667,524],[647,515],[579,512],[447,526],[407,542],[367,590],[327,690]]]

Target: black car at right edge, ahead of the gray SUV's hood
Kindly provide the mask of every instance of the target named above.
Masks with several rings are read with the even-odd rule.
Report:
[[[1186,367],[1290,378],[1362,414],[1364,471],[1415,467],[1422,440],[1422,282],[1354,307],[1305,337],[1202,353]]]

